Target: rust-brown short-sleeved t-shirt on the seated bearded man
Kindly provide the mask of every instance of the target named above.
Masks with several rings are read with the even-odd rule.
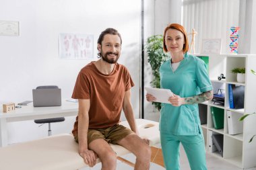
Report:
[[[107,128],[119,123],[125,91],[134,83],[123,65],[115,64],[109,75],[104,75],[93,64],[86,65],[77,76],[73,99],[90,99],[89,128]],[[78,116],[73,135],[77,135]]]

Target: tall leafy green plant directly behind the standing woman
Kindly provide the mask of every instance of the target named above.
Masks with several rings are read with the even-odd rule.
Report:
[[[152,87],[160,88],[160,75],[159,68],[162,65],[162,62],[170,58],[170,56],[163,51],[163,36],[156,35],[150,36],[147,39],[146,51],[148,54],[148,62],[152,68],[153,80],[151,82]],[[161,109],[161,103],[152,102],[154,107],[158,110]]]

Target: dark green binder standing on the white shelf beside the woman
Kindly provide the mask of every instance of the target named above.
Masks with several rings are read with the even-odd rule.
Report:
[[[224,109],[211,107],[212,122],[215,129],[224,128]]]

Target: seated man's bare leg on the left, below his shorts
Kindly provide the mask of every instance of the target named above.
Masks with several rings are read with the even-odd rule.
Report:
[[[102,163],[102,170],[115,170],[117,167],[117,155],[108,142],[96,139],[90,142],[89,149],[94,151]]]

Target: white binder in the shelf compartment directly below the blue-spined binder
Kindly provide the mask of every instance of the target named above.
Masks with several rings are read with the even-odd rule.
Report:
[[[243,114],[231,111],[227,111],[226,114],[228,118],[228,134],[243,133],[243,122],[239,121]]]

